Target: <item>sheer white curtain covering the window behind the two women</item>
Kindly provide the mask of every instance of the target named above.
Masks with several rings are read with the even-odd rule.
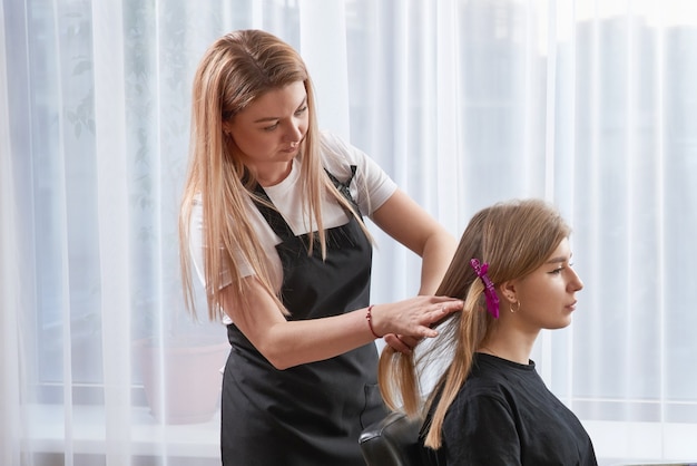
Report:
[[[225,334],[184,312],[176,216],[194,69],[238,28],[295,46],[322,126],[453,234],[557,203],[586,288],[540,372],[602,464],[697,460],[690,2],[3,0],[0,23],[0,463],[218,463]],[[376,237],[373,301],[412,294],[418,259]]]

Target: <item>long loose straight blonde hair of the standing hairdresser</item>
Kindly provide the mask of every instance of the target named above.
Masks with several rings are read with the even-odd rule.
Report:
[[[233,304],[245,304],[238,272],[240,260],[252,266],[279,311],[287,313],[274,291],[268,260],[247,215],[248,197],[267,203],[254,194],[256,174],[242,162],[234,140],[224,134],[223,123],[234,119],[265,93],[298,81],[305,86],[308,108],[307,133],[297,156],[302,161],[300,183],[305,193],[303,212],[308,224],[317,226],[316,239],[314,234],[308,235],[308,253],[318,241],[322,256],[326,255],[320,208],[323,193],[353,212],[324,173],[313,86],[300,55],[277,37],[261,30],[239,30],[220,37],[204,54],[194,78],[190,158],[179,214],[181,280],[186,305],[193,313],[189,224],[198,196],[203,205],[204,276],[209,319],[223,315],[220,289],[226,283],[220,271],[224,269],[229,270],[235,288]],[[362,222],[361,225],[367,234]]]

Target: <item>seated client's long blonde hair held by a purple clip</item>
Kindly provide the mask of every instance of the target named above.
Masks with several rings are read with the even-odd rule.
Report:
[[[463,311],[446,318],[439,328],[441,334],[418,357],[385,347],[380,358],[379,384],[390,408],[425,417],[435,404],[425,446],[440,448],[445,412],[470,373],[474,352],[497,323],[487,312],[484,285],[470,260],[489,263],[488,275],[497,285],[538,269],[569,234],[558,211],[540,200],[499,203],[472,217],[436,291],[462,299]],[[420,372],[443,357],[449,362],[424,404]]]

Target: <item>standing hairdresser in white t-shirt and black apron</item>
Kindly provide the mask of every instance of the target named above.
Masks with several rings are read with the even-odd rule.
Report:
[[[259,30],[215,41],[194,79],[184,283],[227,323],[223,464],[359,466],[385,412],[376,338],[409,352],[462,302],[431,295],[454,239],[365,154],[322,134],[298,54]],[[377,226],[422,258],[420,294],[369,301]]]

